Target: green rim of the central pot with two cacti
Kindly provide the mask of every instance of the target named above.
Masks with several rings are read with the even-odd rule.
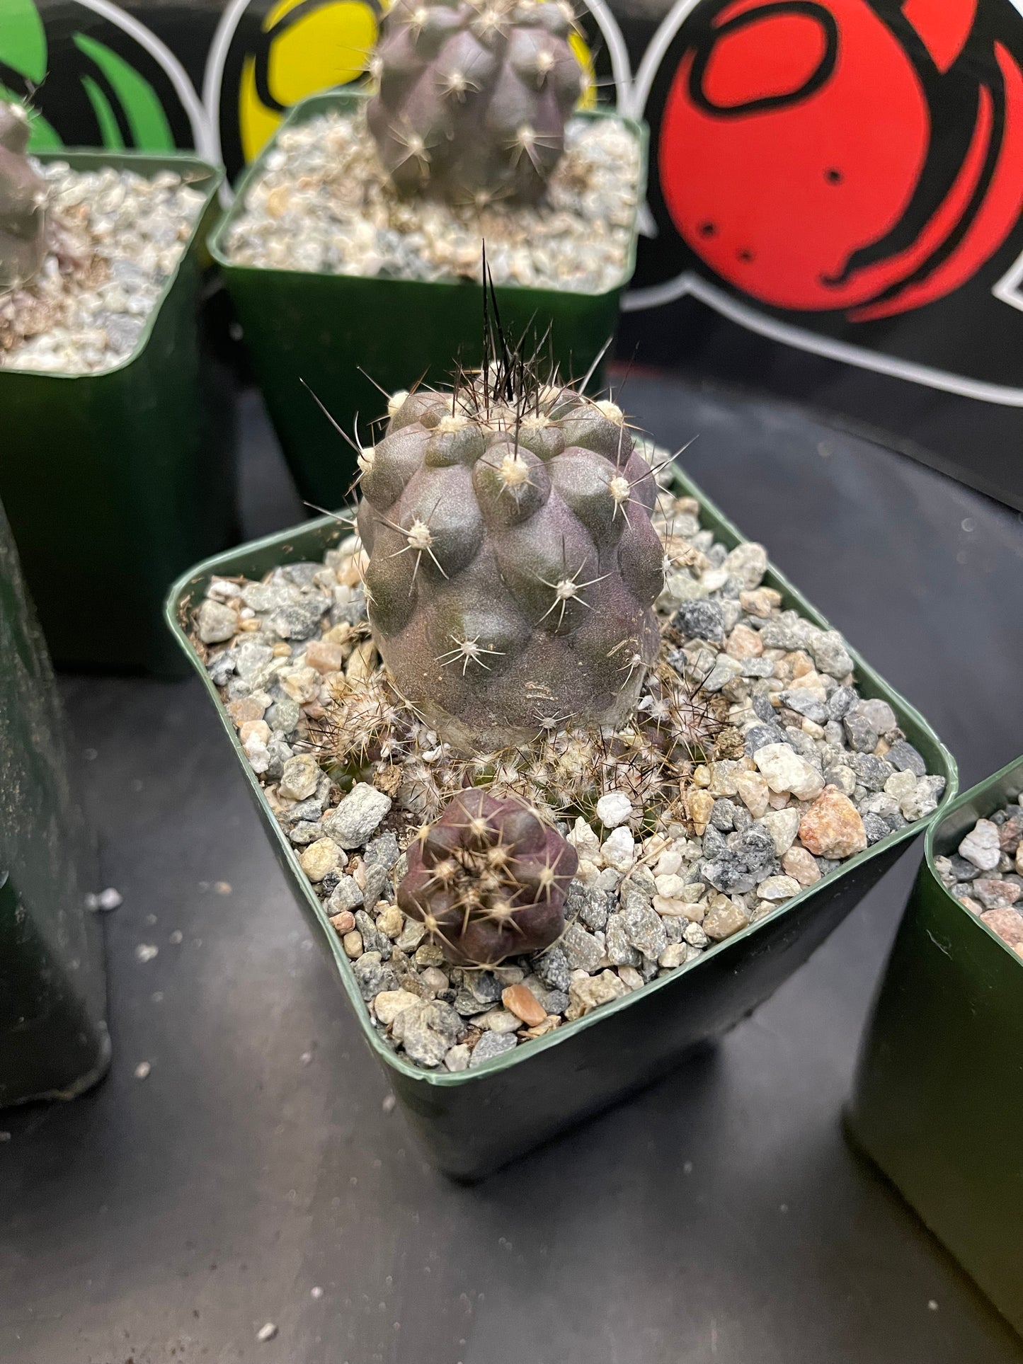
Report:
[[[649,446],[647,447],[645,453],[648,457],[655,457],[655,458],[659,453],[662,456],[666,454],[666,451],[657,451],[656,447],[651,449]],[[693,483],[693,480],[678,465],[674,465],[674,475],[675,475],[674,477],[675,491],[681,495],[693,496],[698,501],[702,513],[701,528],[713,529],[715,536],[722,539],[724,543],[728,543],[730,547],[746,543],[746,536],[742,535],[742,532],[717,509],[717,506],[711,501],[711,498],[708,498],[707,494],[704,494],[702,490],[696,483]],[[863,659],[859,656],[859,653],[848,644],[848,641],[846,641],[846,647],[854,663],[854,671],[857,675],[859,690],[868,697],[869,696],[884,697],[896,711],[902,727],[906,728],[907,726],[904,722],[908,722],[908,730],[914,731],[915,738],[918,741],[922,739],[923,746],[932,750],[933,758],[938,760],[937,765],[940,771],[937,771],[934,775],[945,777],[945,791],[937,806],[937,810],[934,810],[933,814],[928,816],[923,820],[918,820],[914,824],[907,824],[904,828],[898,829],[893,833],[889,833],[887,837],[865,848],[862,853],[857,853],[855,857],[848,858],[835,872],[832,872],[827,877],[827,880],[821,880],[814,883],[814,885],[806,887],[798,895],[794,895],[790,900],[786,900],[784,904],[780,908],[775,910],[773,914],[771,914],[769,917],[765,917],[757,923],[750,923],[745,929],[741,929],[738,933],[734,933],[731,937],[724,938],[722,943],[716,943],[713,947],[707,948],[698,958],[685,963],[683,966],[677,967],[668,975],[656,977],[655,979],[648,981],[638,990],[632,990],[629,994],[625,994],[618,1000],[612,1000],[608,1004],[603,1004],[600,1005],[600,1008],[593,1009],[591,1013],[584,1015],[584,1018],[581,1019],[576,1019],[572,1023],[562,1023],[561,1027],[555,1028],[552,1033],[548,1033],[546,1037],[532,1039],[529,1046],[516,1046],[512,1052],[505,1052],[503,1054],[496,1056],[492,1060],[484,1061],[481,1065],[466,1071],[436,1072],[436,1071],[423,1069],[421,1067],[417,1067],[412,1061],[405,1060],[401,1054],[393,1052],[389,1046],[386,1046],[378,1030],[372,1026],[368,1004],[363,1000],[361,993],[359,992],[355,979],[355,973],[352,970],[352,963],[345,956],[345,952],[341,947],[341,940],[338,938],[337,933],[334,932],[334,928],[327,919],[323,903],[315,895],[312,885],[306,878],[306,874],[301,870],[297,851],[288,842],[282,828],[277,822],[277,818],[274,817],[273,812],[270,810],[270,805],[263,794],[262,786],[259,784],[259,777],[252,771],[248,758],[244,753],[244,749],[241,747],[241,741],[239,739],[237,730],[235,728],[231,716],[228,715],[224,704],[221,702],[217,687],[213,685],[213,681],[210,679],[210,675],[206,671],[205,664],[202,663],[198,653],[192,648],[186,630],[183,599],[188,597],[191,595],[191,589],[202,584],[203,578],[209,580],[210,577],[217,577],[217,576],[231,576],[232,573],[231,561],[236,559],[239,554],[252,552],[259,550],[282,548],[288,544],[289,540],[301,537],[308,533],[323,532],[330,527],[337,527],[338,539],[342,537],[344,535],[351,533],[351,529],[348,529],[346,522],[341,525],[338,522],[338,517],[329,514],[306,521],[301,525],[293,527],[288,531],[278,531],[274,535],[262,536],[261,539],[251,540],[244,546],[236,546],[233,550],[226,551],[226,554],[220,554],[209,559],[203,559],[201,563],[195,565],[195,567],[191,569],[188,573],[184,573],[170,587],[166,597],[165,619],[175,638],[177,640],[179,645],[184,649],[187,657],[191,660],[192,667],[195,667],[196,672],[199,672],[203,681],[203,686],[206,687],[206,692],[210,694],[217,708],[217,715],[220,717],[220,722],[226,730],[228,737],[235,747],[236,757],[244,769],[246,780],[248,782],[250,788],[252,790],[255,799],[262,809],[263,817],[273,827],[274,836],[280,847],[286,854],[285,859],[291,868],[292,876],[296,878],[299,887],[301,888],[301,893],[306,902],[308,903],[312,915],[316,919],[316,923],[321,928],[321,933],[325,936],[326,945],[331,956],[334,958],[334,962],[338,966],[338,974],[341,975],[342,986],[349,997],[353,1009],[359,1015],[359,1022],[364,1038],[367,1039],[370,1048],[376,1054],[378,1060],[385,1063],[391,1069],[398,1071],[408,1079],[420,1082],[427,1086],[457,1087],[461,1084],[472,1083],[476,1079],[488,1078],[494,1075],[496,1071],[503,1071],[510,1065],[520,1065],[528,1061],[529,1057],[539,1056],[542,1052],[547,1050],[551,1046],[558,1046],[567,1037],[573,1037],[577,1033],[597,1026],[603,1019],[611,1018],[621,1009],[629,1008],[638,998],[645,998],[657,990],[678,986],[678,983],[686,978],[689,971],[698,970],[700,966],[708,958],[716,956],[722,952],[727,952],[735,944],[758,933],[760,929],[768,922],[768,918],[772,922],[775,922],[782,915],[787,915],[797,904],[802,904],[805,900],[810,899],[813,895],[816,895],[825,887],[828,888],[833,887],[842,877],[847,876],[850,872],[862,866],[865,862],[869,862],[870,859],[888,853],[896,844],[918,836],[921,832],[923,832],[925,828],[928,828],[928,836],[930,836],[930,828],[933,828],[934,821],[941,818],[948,810],[949,805],[952,803],[958,787],[958,767],[955,758],[952,757],[949,750],[944,746],[944,743],[937,737],[930,724],[919,713],[919,711],[917,711],[917,708],[911,705],[899,692],[896,692],[895,687],[887,683],[868,663],[865,663]],[[783,607],[794,607],[795,610],[799,611],[801,615],[803,615],[806,619],[812,621],[821,629],[825,630],[833,629],[833,626],[820,614],[820,611],[817,611],[814,607],[810,606],[810,603],[802,596],[799,589],[795,588],[790,582],[790,580],[771,562],[768,563],[764,581],[768,585],[775,587],[782,592]],[[929,765],[932,765],[930,761]]]

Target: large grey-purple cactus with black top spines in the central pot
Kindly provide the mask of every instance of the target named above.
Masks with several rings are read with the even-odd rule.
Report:
[[[370,626],[443,739],[487,753],[632,713],[657,657],[663,546],[612,402],[513,355],[453,391],[397,394],[360,464]]]

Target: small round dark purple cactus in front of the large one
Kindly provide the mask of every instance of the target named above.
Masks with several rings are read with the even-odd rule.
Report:
[[[521,801],[466,791],[408,850],[398,906],[457,966],[540,952],[565,929],[578,855]]]

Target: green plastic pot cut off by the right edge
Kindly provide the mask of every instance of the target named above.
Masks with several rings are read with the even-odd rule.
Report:
[[[934,870],[1023,791],[1023,758],[928,829],[846,1128],[1023,1333],[1023,959]]]

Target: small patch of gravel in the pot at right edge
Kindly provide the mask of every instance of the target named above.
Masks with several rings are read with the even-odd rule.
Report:
[[[1023,794],[978,820],[934,866],[952,895],[1023,956]]]

